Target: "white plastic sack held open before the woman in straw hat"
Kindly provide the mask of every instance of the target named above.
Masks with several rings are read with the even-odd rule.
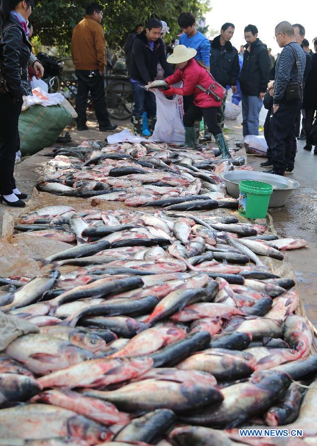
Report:
[[[159,90],[155,90],[155,96],[157,100],[157,122],[153,132],[154,141],[184,144],[183,97],[175,95],[173,99],[167,99]]]

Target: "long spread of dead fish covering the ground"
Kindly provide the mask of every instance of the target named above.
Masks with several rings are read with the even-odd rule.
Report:
[[[0,261],[0,310],[34,327],[0,353],[8,445],[285,444],[242,439],[244,426],[303,429],[298,445],[317,435],[314,327],[285,255],[309,248],[238,214],[220,174],[252,170],[241,155],[53,149],[0,241],[16,260]]]

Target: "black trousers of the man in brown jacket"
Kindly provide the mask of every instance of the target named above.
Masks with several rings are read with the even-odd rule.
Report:
[[[87,100],[88,93],[90,92],[94,101],[99,126],[106,127],[110,124],[110,121],[106,109],[104,76],[101,76],[98,70],[76,70],[75,74],[78,78],[78,91],[76,96],[77,124],[86,124]],[[89,77],[90,74],[92,77]]]

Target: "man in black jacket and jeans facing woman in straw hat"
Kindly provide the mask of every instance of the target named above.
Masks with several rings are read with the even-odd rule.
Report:
[[[146,91],[143,86],[150,84],[157,76],[158,63],[161,64],[165,76],[173,73],[166,62],[164,42],[159,37],[162,30],[161,22],[150,19],[146,29],[137,34],[133,42],[131,61],[131,82],[134,95],[134,106],[131,122],[136,135],[142,135],[142,115],[148,114],[149,130],[154,130],[157,104],[154,93]]]

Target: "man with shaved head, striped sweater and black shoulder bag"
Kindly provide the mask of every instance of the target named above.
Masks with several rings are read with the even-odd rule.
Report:
[[[270,148],[273,169],[266,171],[285,176],[293,150],[294,124],[301,109],[300,88],[298,95],[295,83],[303,85],[306,56],[295,40],[292,25],[283,21],[275,27],[275,38],[281,54],[276,60],[274,82],[268,84],[273,96],[273,114],[270,120]],[[288,85],[292,92],[287,92]]]

